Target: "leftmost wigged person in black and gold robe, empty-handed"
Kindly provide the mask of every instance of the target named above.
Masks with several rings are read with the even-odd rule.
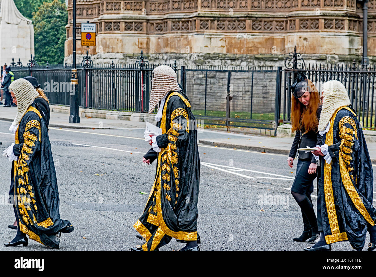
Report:
[[[12,164],[11,198],[18,222],[17,235],[6,246],[27,246],[27,238],[59,249],[60,233],[73,231],[60,218],[59,192],[48,129],[34,100],[39,93],[30,82],[18,79],[9,87],[17,101],[17,116],[10,128],[15,143],[8,156]]]

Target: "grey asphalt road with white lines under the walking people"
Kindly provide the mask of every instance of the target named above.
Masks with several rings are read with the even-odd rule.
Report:
[[[1,152],[14,142],[9,124],[0,121]],[[155,175],[155,164],[141,162],[150,148],[142,138],[143,131],[50,128],[60,213],[75,228],[73,233],[63,234],[60,250],[32,240],[28,247],[1,246],[15,236],[15,231],[7,228],[14,222],[12,206],[6,204],[11,163],[1,158],[0,251],[128,251],[142,244],[132,225],[143,212]],[[209,137],[235,135],[199,133],[199,139]],[[199,145],[199,150],[202,167],[197,228],[202,251],[302,251],[311,246],[292,240],[303,230],[300,208],[290,193],[297,160],[290,169],[284,155],[204,145]],[[271,196],[279,203],[268,202]],[[368,241],[367,235],[364,251]],[[183,244],[173,239],[161,251],[181,247]],[[348,242],[333,244],[332,250],[355,251]]]

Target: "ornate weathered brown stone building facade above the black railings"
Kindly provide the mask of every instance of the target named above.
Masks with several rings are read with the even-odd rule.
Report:
[[[356,0],[77,0],[77,27],[97,24],[94,62],[282,65],[294,46],[306,62],[346,62],[362,53]],[[65,59],[72,58],[68,0]],[[77,29],[77,37],[80,30]],[[376,0],[368,3],[368,56],[376,62]]]

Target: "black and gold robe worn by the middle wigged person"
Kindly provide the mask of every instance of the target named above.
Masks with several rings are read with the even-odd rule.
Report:
[[[147,241],[144,251],[154,251],[172,237],[197,240],[200,158],[196,126],[185,94],[168,93],[160,122],[162,135],[157,137],[161,152],[156,177],[144,213],[133,225]]]

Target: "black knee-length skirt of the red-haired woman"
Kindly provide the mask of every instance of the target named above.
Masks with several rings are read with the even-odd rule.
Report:
[[[313,192],[313,181],[317,177],[317,172],[313,174],[308,173],[308,167],[310,164],[311,159],[298,159],[296,175],[291,191],[300,194]]]

